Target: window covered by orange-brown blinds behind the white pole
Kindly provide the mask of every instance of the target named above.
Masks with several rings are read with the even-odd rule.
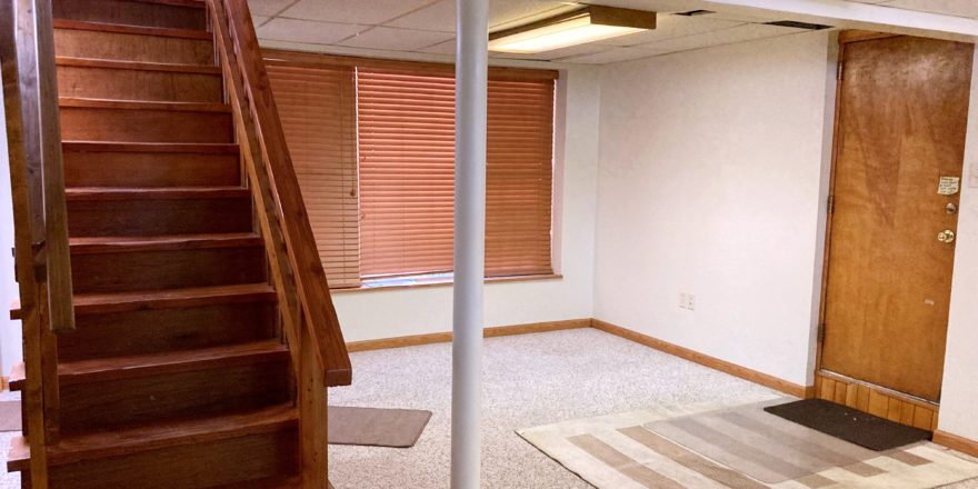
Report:
[[[270,61],[269,76],[310,217],[317,206],[339,209],[331,214],[323,212],[322,219],[312,223],[317,240],[322,236],[330,242],[323,247],[318,241],[330,286],[357,287],[361,279],[450,272],[455,207],[452,67],[281,51],[275,54],[273,59],[286,60]],[[301,62],[296,57],[301,57]],[[329,68],[309,68],[320,64]],[[309,78],[332,77],[348,86],[313,83],[309,78],[290,86],[286,76],[298,76],[291,70]],[[350,73],[350,78],[332,74],[340,72]],[[487,277],[552,273],[556,78],[555,71],[490,69]],[[291,103],[283,103],[280,92],[288,90],[295,93],[286,96]],[[303,90],[315,97],[302,97]],[[312,103],[320,99],[329,103]],[[308,114],[326,106],[332,116],[318,120],[289,113],[296,110]],[[347,113],[355,113],[352,123],[335,119],[336,114]],[[350,128],[356,128],[355,136],[349,134]],[[347,149],[341,142],[335,146],[337,136],[327,138],[325,131],[346,131],[339,140],[355,139],[355,147]],[[330,148],[327,154],[331,157],[318,156],[323,144]],[[327,167],[332,170],[325,170]],[[342,182],[322,181],[328,174]],[[359,219],[350,219],[351,206],[359,206]],[[357,239],[350,236],[352,221]],[[356,280],[350,270],[356,270]]]

